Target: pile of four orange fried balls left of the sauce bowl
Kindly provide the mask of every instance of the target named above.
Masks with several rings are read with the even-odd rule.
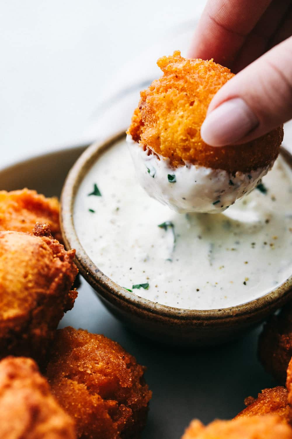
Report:
[[[74,255],[56,198],[0,191],[1,438],[127,439],[144,426],[145,368],[103,335],[56,330],[77,297]]]

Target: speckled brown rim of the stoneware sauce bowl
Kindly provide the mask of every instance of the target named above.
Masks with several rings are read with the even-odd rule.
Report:
[[[134,308],[140,310],[140,312],[142,310],[146,313],[169,317],[175,320],[220,320],[235,316],[250,316],[251,314],[264,311],[264,309],[276,304],[280,299],[283,299],[284,296],[292,292],[291,275],[277,288],[250,302],[219,309],[183,309],[144,299],[133,292],[127,291],[99,270],[85,252],[77,236],[74,227],[74,201],[79,185],[88,170],[94,165],[103,151],[112,147],[123,138],[126,139],[125,131],[115,133],[106,140],[103,139],[91,144],[70,169],[63,185],[60,198],[60,223],[65,246],[67,249],[75,248],[76,265],[82,276],[95,291],[98,290],[99,294],[104,298],[113,296],[115,301],[119,300],[127,307],[134,306]],[[285,162],[288,163],[288,166],[292,168],[292,155],[288,150],[281,146],[280,154],[285,159]]]

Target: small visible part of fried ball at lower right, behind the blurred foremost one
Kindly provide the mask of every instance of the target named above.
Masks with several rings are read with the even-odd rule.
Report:
[[[272,389],[264,389],[257,398],[252,396],[244,400],[246,408],[234,419],[253,415],[278,414],[283,422],[291,424],[292,411],[288,403],[288,391],[285,387],[277,386]]]

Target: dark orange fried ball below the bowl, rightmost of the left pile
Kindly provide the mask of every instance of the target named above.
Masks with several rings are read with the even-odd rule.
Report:
[[[118,343],[72,327],[56,333],[47,368],[53,395],[76,421],[78,438],[137,438],[151,391],[145,368]]]

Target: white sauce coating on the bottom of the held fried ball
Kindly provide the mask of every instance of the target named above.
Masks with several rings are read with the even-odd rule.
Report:
[[[148,149],[144,151],[130,134],[127,144],[143,189],[150,197],[179,213],[223,212],[252,191],[273,165],[234,174],[191,163],[173,168],[169,159],[157,154],[158,159],[155,154],[148,154]]]

